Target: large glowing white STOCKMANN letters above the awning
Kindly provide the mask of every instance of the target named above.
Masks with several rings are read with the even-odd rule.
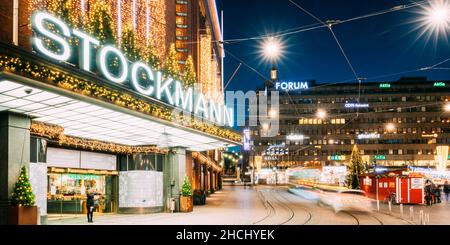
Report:
[[[52,23],[60,30],[60,34],[49,30],[45,23]],[[172,106],[202,116],[218,125],[233,127],[234,113],[232,108],[218,104],[213,100],[207,102],[205,96],[195,91],[193,87],[184,88],[180,81],[171,77],[166,78],[160,71],[153,71],[144,62],[130,63],[118,48],[111,45],[102,46],[95,37],[77,29],[71,30],[64,22],[48,13],[35,13],[32,16],[32,28],[39,34],[39,36],[36,35],[32,38],[34,48],[51,59],[66,62],[71,58],[73,50],[68,39],[73,35],[79,39],[79,66],[82,70],[93,72],[91,53],[93,47],[99,47],[96,53],[96,68],[108,81],[121,85],[129,84],[142,95],[151,96],[160,101],[164,99],[166,103]],[[48,49],[44,44],[44,37],[58,44],[60,50]],[[109,70],[110,56],[118,59],[118,74]],[[141,84],[142,72],[149,78],[146,85]]]

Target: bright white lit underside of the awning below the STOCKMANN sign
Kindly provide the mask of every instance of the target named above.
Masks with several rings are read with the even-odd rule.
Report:
[[[66,135],[130,146],[186,147],[190,151],[235,146],[232,141],[84,97],[38,83],[33,86],[30,82],[0,79],[0,112],[14,111],[35,121],[62,126]]]

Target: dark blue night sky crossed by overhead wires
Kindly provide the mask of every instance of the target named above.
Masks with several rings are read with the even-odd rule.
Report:
[[[318,18],[344,20],[397,5],[410,4],[402,0],[295,0]],[[288,0],[218,0],[224,10],[225,40],[270,34],[299,26],[317,23]],[[337,25],[336,36],[346,51],[359,77],[414,70],[431,66],[450,58],[450,44],[446,38],[437,42],[419,38],[411,23],[420,15],[420,7]],[[281,80],[317,80],[339,82],[354,79],[342,53],[327,28],[316,29],[283,38],[285,55],[278,62]],[[270,64],[259,55],[259,41],[226,44],[235,56],[268,77]],[[225,83],[239,62],[226,57]],[[440,67],[450,67],[447,62]],[[401,76],[427,76],[434,80],[450,80],[450,70],[421,71],[403,75],[369,79],[391,81]],[[262,79],[242,66],[227,90],[254,90]]]

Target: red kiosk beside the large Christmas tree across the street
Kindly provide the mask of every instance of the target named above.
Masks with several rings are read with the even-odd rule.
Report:
[[[367,196],[380,201],[403,204],[424,204],[424,176],[419,173],[391,172],[387,175],[368,174],[360,177],[361,189]]]

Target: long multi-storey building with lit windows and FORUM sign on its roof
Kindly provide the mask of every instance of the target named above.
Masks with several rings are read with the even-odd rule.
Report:
[[[346,165],[354,144],[370,165],[433,167],[436,147],[450,144],[450,81],[402,78],[360,90],[358,83],[308,81],[269,90],[276,88],[278,136],[251,132],[266,167]]]

